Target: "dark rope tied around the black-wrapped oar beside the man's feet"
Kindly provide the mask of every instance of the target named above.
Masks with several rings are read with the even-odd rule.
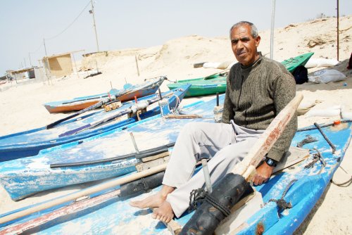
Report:
[[[231,210],[228,209],[225,205],[222,205],[219,203],[219,201],[214,198],[213,196],[210,196],[207,191],[204,189],[194,189],[191,191],[190,196],[189,196],[189,211],[191,210],[196,210],[197,203],[203,203],[204,199],[210,203],[210,205],[213,205],[214,208],[220,210],[225,217],[229,216],[231,214]]]

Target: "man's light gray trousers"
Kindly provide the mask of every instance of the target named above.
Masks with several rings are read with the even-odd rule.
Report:
[[[163,184],[176,188],[166,198],[175,216],[180,217],[189,207],[191,191],[205,185],[203,171],[194,174],[200,158],[211,158],[208,168],[214,184],[246,156],[263,132],[225,123],[185,125],[177,137],[163,179]]]

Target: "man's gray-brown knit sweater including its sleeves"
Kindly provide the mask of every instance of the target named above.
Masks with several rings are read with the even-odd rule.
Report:
[[[227,76],[222,122],[230,120],[249,129],[266,129],[275,116],[296,95],[296,82],[284,65],[260,56],[244,67],[232,66]],[[289,149],[297,129],[297,116],[289,122],[268,153],[268,158],[281,160]]]

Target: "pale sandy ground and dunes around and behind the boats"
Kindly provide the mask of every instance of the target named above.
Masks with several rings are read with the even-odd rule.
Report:
[[[352,16],[340,18],[339,63],[333,69],[346,75],[346,80],[315,84],[308,82],[297,85],[298,92],[303,94],[303,103],[311,104],[320,101],[311,110],[326,110],[341,106],[345,113],[352,112],[352,70],[347,70],[348,58],[352,52]],[[270,56],[270,31],[260,32],[262,38],[259,50]],[[275,30],[274,59],[298,56],[313,51],[313,58],[334,58],[337,55],[336,18],[318,19],[306,23],[292,23]],[[137,75],[135,56],[139,65]],[[77,60],[77,58],[76,58]],[[111,87],[120,88],[125,82],[137,84],[144,78],[167,75],[170,80],[202,77],[220,72],[215,68],[193,68],[194,63],[201,62],[234,62],[230,40],[223,37],[205,38],[190,35],[173,39],[161,46],[144,49],[125,49],[95,53],[85,60],[77,61],[80,69],[95,69],[98,65],[101,75],[84,79],[84,73],[68,77],[51,77],[51,79],[19,80],[16,84],[0,84],[0,136],[15,132],[42,127],[68,114],[49,114],[43,103],[70,99],[77,96],[99,94],[109,91]],[[310,68],[314,72],[324,68]],[[162,91],[167,90],[164,82]],[[199,98],[184,99],[182,104],[191,103]],[[210,99],[206,97],[204,99]],[[340,116],[298,117],[298,126],[313,125],[313,122],[332,122]],[[341,169],[343,168],[343,169]],[[344,182],[352,173],[352,148],[348,148],[341,167],[334,175],[335,182]],[[83,186],[71,186],[49,193],[39,193],[14,203],[0,187],[0,213],[23,205],[42,201],[60,194],[75,191]],[[296,234],[352,234],[352,186],[339,187],[329,184],[320,201],[296,231]]]

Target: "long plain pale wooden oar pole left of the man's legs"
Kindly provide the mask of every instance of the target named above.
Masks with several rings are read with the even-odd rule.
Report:
[[[155,174],[155,173],[158,173],[158,172],[161,172],[163,170],[166,169],[166,165],[167,163],[165,164],[162,164],[162,165],[158,165],[157,167],[152,167],[148,170],[144,170],[143,172],[137,172],[137,173],[134,173],[134,174],[130,174],[126,177],[122,177],[122,178],[119,178],[119,179],[113,179],[109,182],[106,182],[106,183],[103,183],[103,184],[99,184],[99,185],[96,185],[96,186],[92,186],[92,187],[89,187],[87,189],[84,189],[84,190],[81,190],[81,191],[77,191],[76,193],[71,193],[67,196],[63,196],[61,198],[56,198],[52,201],[48,201],[46,203],[42,203],[40,205],[35,205],[33,206],[32,208],[27,208],[25,210],[21,210],[19,212],[14,212],[13,214],[11,215],[6,215],[4,217],[1,217],[0,218],[0,224],[2,223],[5,223],[5,222],[9,222],[11,220],[16,220],[20,217],[24,217],[26,215],[30,215],[34,212],[38,212],[40,210],[45,210],[47,208],[51,208],[51,207],[54,207],[55,205],[61,205],[63,203],[66,203],[68,201],[75,201],[77,198],[81,198],[83,196],[89,196],[91,195],[92,193],[96,193],[96,192],[99,192],[99,191],[102,191],[102,190],[105,190],[105,189],[110,189],[110,188],[113,188],[114,186],[118,186],[120,184],[126,184],[126,183],[129,183],[129,182],[132,182],[136,179],[141,179],[142,177],[146,177],[146,176],[149,176],[151,174]]]

